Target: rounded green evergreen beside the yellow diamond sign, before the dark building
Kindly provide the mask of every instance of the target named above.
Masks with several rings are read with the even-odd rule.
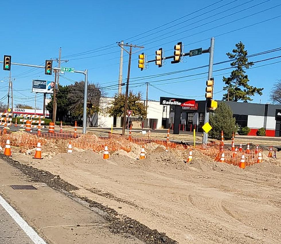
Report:
[[[208,135],[215,139],[221,138],[220,133],[222,130],[226,140],[232,138],[233,131],[237,131],[231,108],[225,102],[218,103],[218,108],[214,113],[210,113],[209,123],[212,126],[212,130],[210,130]]]

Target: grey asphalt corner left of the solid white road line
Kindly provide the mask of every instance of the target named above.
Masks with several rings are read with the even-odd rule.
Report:
[[[0,244],[34,244],[1,205]]]

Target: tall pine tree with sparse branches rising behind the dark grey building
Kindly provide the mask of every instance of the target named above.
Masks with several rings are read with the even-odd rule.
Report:
[[[227,93],[223,94],[223,100],[225,101],[239,101],[243,102],[252,101],[250,96],[255,95],[255,93],[262,95],[262,90],[264,88],[253,87],[248,84],[249,78],[246,75],[245,69],[253,66],[253,62],[248,62],[248,52],[245,50],[245,45],[240,41],[235,44],[236,49],[233,49],[232,52],[228,52],[226,55],[229,59],[233,59],[233,62],[230,64],[235,69],[231,72],[230,77],[223,77],[223,82],[225,87],[223,90]]]

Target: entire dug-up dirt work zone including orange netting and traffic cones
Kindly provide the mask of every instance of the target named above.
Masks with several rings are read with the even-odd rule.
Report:
[[[169,140],[166,133],[162,139],[151,134],[18,131],[1,133],[0,145],[5,149],[9,140],[11,156],[2,158],[27,174],[39,169],[38,181],[51,173],[91,206],[106,206],[120,221],[113,233],[147,244],[280,241],[281,155],[274,147],[243,143],[240,151],[234,138],[194,148],[173,142],[169,133]]]

